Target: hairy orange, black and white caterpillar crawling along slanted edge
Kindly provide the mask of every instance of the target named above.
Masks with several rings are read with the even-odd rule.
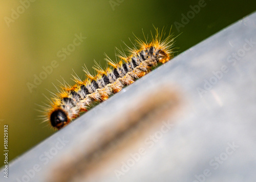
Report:
[[[119,60],[112,61],[108,56],[105,60],[108,67],[102,69],[98,64],[93,67],[96,74],[92,75],[87,68],[86,79],[81,81],[74,76],[75,85],[61,85],[61,91],[49,99],[50,105],[44,107],[45,121],[55,129],[60,129],[69,124],[80,112],[86,112],[94,102],[101,102],[111,95],[119,92],[123,87],[131,85],[137,79],[150,72],[159,64],[164,64],[174,57],[174,38],[170,33],[166,38],[165,33],[158,29],[156,34],[151,33],[151,41],[148,42],[136,37],[133,48],[126,50],[130,53],[126,56],[117,55]],[[145,37],[145,36],[144,36]]]

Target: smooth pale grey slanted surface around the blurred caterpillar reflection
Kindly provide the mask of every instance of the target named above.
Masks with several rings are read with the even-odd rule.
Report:
[[[40,170],[31,172],[34,176],[26,181],[45,181],[60,156],[97,135],[95,129],[107,122],[106,118],[123,111],[136,96],[164,84],[179,88],[185,100],[182,114],[175,126],[120,176],[120,181],[196,181],[196,175],[201,176],[201,181],[256,181],[256,44],[245,45],[247,40],[256,42],[255,30],[256,13],[190,48],[14,160],[9,166],[9,178],[4,178],[1,171],[0,180],[22,181],[26,170],[31,172],[39,166]],[[243,47],[250,50],[243,51]],[[232,54],[241,53],[235,63],[228,61]],[[205,80],[213,81],[213,71],[223,66],[228,71],[200,95],[198,88],[204,88]],[[68,142],[58,143],[62,138]],[[226,151],[232,143],[238,147]],[[48,157],[46,164],[45,152],[49,150],[56,155]],[[225,154],[229,152],[232,154]],[[220,155],[225,160],[218,167],[216,161],[211,165],[210,161]],[[207,169],[210,175],[204,178]],[[99,174],[104,181],[119,181],[114,171]],[[92,181],[100,180],[95,176]]]

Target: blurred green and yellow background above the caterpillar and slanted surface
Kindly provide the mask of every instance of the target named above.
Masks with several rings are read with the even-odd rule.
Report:
[[[182,14],[187,17],[190,5],[200,2],[37,0],[23,9],[20,1],[1,1],[1,151],[4,124],[9,125],[9,161],[52,135],[54,131],[46,123],[36,120],[40,113],[35,110],[38,109],[35,103],[40,105],[46,101],[42,94],[50,96],[46,89],[55,90],[52,83],[59,85],[57,79],[62,80],[60,76],[73,84],[73,70],[84,79],[84,63],[89,70],[92,70],[94,59],[104,66],[104,53],[115,59],[115,47],[125,48],[122,41],[132,46],[129,38],[134,40],[133,33],[143,38],[142,29],[145,34],[150,34],[154,30],[153,24],[167,28],[167,32],[173,25],[175,35],[182,33],[176,39],[176,46],[182,53],[252,13],[256,7],[256,1],[208,0],[197,14],[194,13],[194,18],[178,30],[175,22],[182,23]],[[10,21],[12,9],[24,12]],[[193,16],[191,12],[190,16]],[[73,43],[75,34],[80,33],[87,39],[61,61],[58,51]],[[58,67],[30,92],[27,83],[34,84],[34,74],[39,76],[44,71],[42,67],[51,65],[53,60],[57,61]],[[2,166],[4,156],[0,156]]]

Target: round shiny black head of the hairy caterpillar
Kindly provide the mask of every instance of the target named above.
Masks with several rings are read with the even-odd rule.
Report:
[[[70,120],[68,119],[67,114],[63,110],[57,109],[51,113],[50,122],[54,128],[60,129],[67,125]]]

